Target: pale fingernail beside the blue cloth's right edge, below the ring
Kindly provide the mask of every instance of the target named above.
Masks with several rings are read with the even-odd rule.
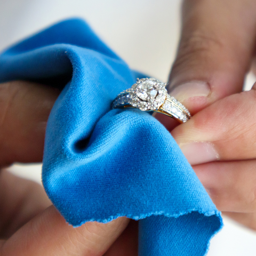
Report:
[[[183,143],[179,146],[191,165],[212,162],[219,159],[219,154],[210,142]]]

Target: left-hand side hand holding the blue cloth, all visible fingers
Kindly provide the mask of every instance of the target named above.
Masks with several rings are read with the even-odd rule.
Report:
[[[39,84],[0,84],[0,166],[42,161],[46,121],[58,94]],[[122,255],[138,254],[137,222],[122,217],[73,228],[51,205],[42,186],[4,169],[0,206],[1,256],[103,255],[114,242],[106,255],[118,255],[120,250]]]

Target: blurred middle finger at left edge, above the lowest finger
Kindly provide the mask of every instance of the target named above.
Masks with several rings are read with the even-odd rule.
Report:
[[[41,185],[1,170],[0,238],[10,237],[51,204]]]

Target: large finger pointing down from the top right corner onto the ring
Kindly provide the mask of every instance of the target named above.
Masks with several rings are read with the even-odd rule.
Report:
[[[183,3],[170,91],[191,114],[242,90],[255,45],[255,10],[251,0]]]

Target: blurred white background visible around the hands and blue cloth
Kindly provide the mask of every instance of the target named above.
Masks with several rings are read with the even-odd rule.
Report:
[[[0,50],[61,19],[81,17],[133,69],[166,81],[179,40],[180,1],[0,0]],[[249,75],[246,87],[255,77]],[[12,167],[41,182],[41,165]],[[256,255],[256,233],[224,218],[209,256]]]

